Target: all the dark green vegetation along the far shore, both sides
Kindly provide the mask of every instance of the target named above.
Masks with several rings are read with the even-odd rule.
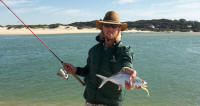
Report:
[[[180,31],[180,32],[200,32],[200,22],[198,21],[186,21],[185,19],[169,20],[169,19],[154,19],[154,20],[139,20],[139,21],[127,21],[128,29],[137,29],[142,31]],[[57,28],[59,26],[74,26],[78,29],[83,28],[96,28],[96,21],[89,22],[74,22],[68,25],[60,23],[50,25],[28,25],[30,28]],[[0,25],[0,27],[2,27]],[[7,25],[7,29],[11,28],[24,28],[24,25]]]

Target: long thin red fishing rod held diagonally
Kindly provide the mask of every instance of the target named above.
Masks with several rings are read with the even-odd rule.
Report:
[[[19,21],[21,21],[22,24],[58,59],[58,61],[63,65],[64,62],[8,7],[8,5],[3,1],[0,0],[1,3],[10,10],[10,12],[17,17]],[[72,74],[82,85],[85,85],[85,83],[76,75]]]

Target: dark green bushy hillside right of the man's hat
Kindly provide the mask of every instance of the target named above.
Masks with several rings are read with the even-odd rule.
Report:
[[[197,21],[186,21],[185,19],[180,20],[139,20],[135,22],[126,22],[128,29],[135,28],[138,30],[149,30],[149,31],[181,31],[181,32],[200,32],[200,22]]]

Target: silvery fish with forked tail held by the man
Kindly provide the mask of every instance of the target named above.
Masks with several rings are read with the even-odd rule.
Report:
[[[121,88],[121,87],[125,87],[125,81],[129,81],[130,74],[127,74],[125,72],[119,72],[111,77],[105,77],[100,74],[96,74],[96,76],[103,80],[101,82],[99,88],[102,88],[108,81],[118,85],[118,87]],[[134,77],[132,79],[132,82],[133,82],[133,88],[138,86],[141,89],[143,89],[144,91],[146,91],[147,95],[150,96],[150,93],[149,93],[148,89],[146,88],[147,87],[146,81],[142,80],[139,77]]]

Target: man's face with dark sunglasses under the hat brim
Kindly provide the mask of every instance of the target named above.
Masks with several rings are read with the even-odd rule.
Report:
[[[120,25],[118,24],[103,24],[103,33],[104,37],[109,40],[113,40],[118,36],[119,31],[121,30]]]

